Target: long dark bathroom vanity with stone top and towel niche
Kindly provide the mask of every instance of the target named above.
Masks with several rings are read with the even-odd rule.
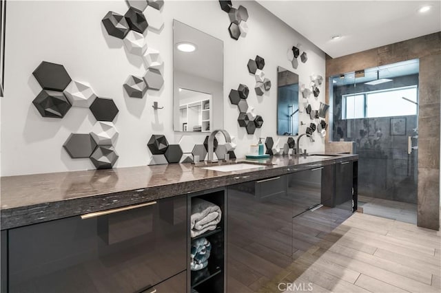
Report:
[[[2,177],[1,292],[236,292],[238,274],[249,273],[244,264],[258,265],[254,254],[277,256],[278,266],[258,268],[276,277],[274,268],[334,227],[316,224],[312,235],[308,221],[320,215],[336,225],[356,208],[357,155],[247,164],[254,167],[214,171],[204,162]],[[309,184],[318,193],[302,190],[298,176],[314,172],[320,182]],[[195,279],[189,217],[197,197],[220,206],[222,220],[203,235],[215,243],[212,264]]]

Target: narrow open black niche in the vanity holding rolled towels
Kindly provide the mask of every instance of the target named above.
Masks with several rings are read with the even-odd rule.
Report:
[[[225,292],[225,283],[226,283],[226,257],[225,257],[225,241],[226,241],[226,219],[227,219],[227,207],[226,207],[226,195],[225,190],[223,188],[212,189],[209,191],[203,191],[201,193],[194,193],[187,197],[187,205],[189,211],[188,217],[188,231],[187,231],[187,284],[189,284],[189,290],[187,292],[192,292],[192,290],[196,290],[198,293],[209,292],[209,293],[220,293]],[[194,230],[192,228],[195,226],[194,219],[192,221],[192,211],[196,210],[193,208],[194,205],[203,204],[203,209],[207,208],[204,205],[204,202],[207,201],[212,204],[215,204],[220,208],[220,221],[216,221],[217,224],[214,228],[214,225],[210,227],[210,230],[204,231],[200,235],[195,235]],[[206,203],[205,203],[206,204]],[[211,208],[210,211],[214,210],[216,213],[217,208]],[[199,209],[197,210],[199,215],[205,215],[204,211]],[[208,215],[209,219],[216,218],[215,215]],[[200,218],[200,217],[198,217]],[[203,221],[202,221],[203,222]],[[212,230],[214,228],[214,230]],[[193,236],[193,237],[192,237]],[[201,270],[192,270],[190,263],[192,263],[192,246],[202,239],[207,239],[210,245],[210,253],[208,258],[208,263],[205,268]],[[193,265],[194,268],[194,265]]]

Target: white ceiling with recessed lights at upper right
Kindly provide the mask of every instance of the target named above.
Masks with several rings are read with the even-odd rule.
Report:
[[[441,31],[439,0],[256,1],[333,58]]]

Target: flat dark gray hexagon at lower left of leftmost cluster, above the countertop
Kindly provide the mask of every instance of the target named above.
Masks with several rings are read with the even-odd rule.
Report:
[[[71,133],[63,144],[70,158],[89,158],[96,148],[96,142],[89,133]]]

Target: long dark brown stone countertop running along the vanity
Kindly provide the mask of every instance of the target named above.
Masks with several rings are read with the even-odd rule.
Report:
[[[201,165],[207,163],[201,163],[1,177],[1,229],[141,204],[348,160],[358,160],[358,155],[333,158],[276,155],[265,160],[247,160],[273,164],[271,166],[232,172],[203,169]]]

